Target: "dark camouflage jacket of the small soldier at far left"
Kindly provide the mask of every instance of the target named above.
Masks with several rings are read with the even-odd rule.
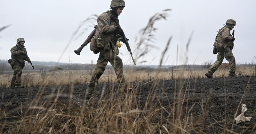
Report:
[[[25,46],[21,45],[21,47],[25,50],[25,53],[27,53]],[[20,63],[24,63],[25,60],[27,60],[26,55],[22,53],[22,50],[19,48],[19,44],[11,48],[11,53],[12,59],[17,59]]]

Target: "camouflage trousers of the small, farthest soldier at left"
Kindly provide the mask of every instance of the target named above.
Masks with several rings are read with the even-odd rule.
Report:
[[[22,63],[15,62],[12,64],[13,76],[10,87],[21,86]]]

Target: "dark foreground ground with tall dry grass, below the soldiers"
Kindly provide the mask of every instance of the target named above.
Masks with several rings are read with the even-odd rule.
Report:
[[[132,90],[125,92],[103,80],[94,94],[87,94],[86,84],[75,83],[1,87],[0,132],[255,133],[255,76],[157,79],[162,72],[147,81],[146,72],[140,73],[141,80],[131,82]],[[252,120],[236,125],[242,103]]]

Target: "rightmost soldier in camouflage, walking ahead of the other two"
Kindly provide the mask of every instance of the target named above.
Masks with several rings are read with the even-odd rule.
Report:
[[[226,21],[226,25],[224,25],[224,27],[219,30],[213,45],[216,52],[218,52],[218,56],[215,63],[205,74],[207,78],[212,78],[213,73],[221,65],[224,58],[226,58],[229,63],[229,77],[236,76],[236,60],[232,53],[234,46],[233,42],[235,41],[235,38],[230,34],[230,30],[232,30],[234,26],[236,26],[236,21],[233,19],[228,19]]]

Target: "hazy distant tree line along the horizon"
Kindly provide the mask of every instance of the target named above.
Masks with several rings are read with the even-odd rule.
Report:
[[[30,64],[25,62],[25,67],[23,70],[33,70]],[[82,64],[82,63],[57,63],[57,62],[40,62],[40,61],[32,61],[35,70],[52,70],[54,68],[58,69],[63,69],[63,70],[92,70],[95,67],[95,64]],[[202,70],[202,69],[207,69],[209,66],[211,66],[212,62],[205,62],[202,65],[163,65],[161,69],[195,69],[195,70]],[[247,64],[237,64],[236,66],[251,66],[251,63]],[[135,69],[136,71],[143,71],[143,70],[154,70],[157,69],[159,66],[158,65],[124,65],[124,70],[128,69]],[[106,70],[113,70],[113,67],[111,65],[106,66]],[[8,63],[8,60],[0,60],[0,74],[3,73],[3,71],[12,71],[12,67]]]

